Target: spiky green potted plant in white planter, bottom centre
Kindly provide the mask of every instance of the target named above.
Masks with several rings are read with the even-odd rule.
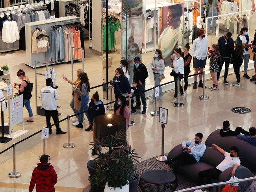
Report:
[[[89,176],[91,183],[91,192],[129,192],[129,181],[135,179],[136,166],[134,161],[138,162],[137,153],[131,146],[127,148],[122,145],[121,148],[112,148],[114,140],[123,140],[125,131],[115,133],[115,136],[109,135],[102,138],[101,141],[92,142],[93,148],[96,148],[96,172]],[[125,142],[124,142],[125,143]],[[100,149],[107,147],[109,150],[102,153]]]

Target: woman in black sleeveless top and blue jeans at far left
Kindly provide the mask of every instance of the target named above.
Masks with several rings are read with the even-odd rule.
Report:
[[[13,88],[19,91],[19,95],[23,95],[23,104],[25,105],[26,109],[28,110],[29,118],[26,119],[26,122],[34,122],[33,120],[33,111],[30,107],[30,98],[32,97],[31,88],[30,88],[30,81],[27,76],[25,76],[25,72],[20,69],[17,72],[18,78],[21,80],[21,83],[14,83]],[[16,85],[19,85],[17,87]]]

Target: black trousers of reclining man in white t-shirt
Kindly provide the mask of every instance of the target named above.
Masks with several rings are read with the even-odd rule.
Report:
[[[211,179],[216,179],[221,174],[221,170],[216,168],[207,169],[198,173],[198,180],[201,181],[200,184],[210,184]],[[204,181],[206,178],[206,182]]]

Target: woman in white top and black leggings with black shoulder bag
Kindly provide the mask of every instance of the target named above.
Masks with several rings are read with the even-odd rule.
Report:
[[[184,60],[181,57],[181,49],[180,48],[176,48],[173,52],[173,65],[171,65],[170,67],[173,68],[174,71],[174,80],[175,80],[175,93],[174,93],[174,99],[172,101],[172,103],[176,103],[177,102],[177,95],[178,95],[178,82],[177,79],[183,77],[184,74]],[[185,99],[186,93],[183,92],[182,86],[180,84],[180,99]]]

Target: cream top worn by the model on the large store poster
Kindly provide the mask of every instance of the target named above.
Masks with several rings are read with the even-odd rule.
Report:
[[[167,27],[161,33],[158,39],[158,49],[162,51],[163,59],[171,56],[174,49],[178,48],[179,28],[180,26],[173,30],[172,27]]]

